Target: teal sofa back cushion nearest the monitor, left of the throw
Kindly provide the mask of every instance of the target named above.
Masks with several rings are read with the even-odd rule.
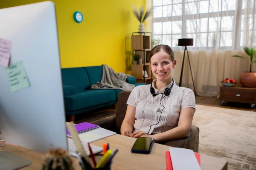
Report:
[[[87,72],[82,67],[61,68],[63,85],[73,86],[76,92],[84,91],[90,87]]]

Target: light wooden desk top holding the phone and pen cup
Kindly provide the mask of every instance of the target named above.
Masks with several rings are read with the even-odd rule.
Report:
[[[103,143],[109,143],[110,149],[119,149],[113,159],[112,170],[165,170],[166,157],[165,152],[169,150],[169,146],[154,143],[150,154],[131,153],[131,147],[135,142],[135,138],[113,135],[105,139],[101,139],[91,144],[102,146]],[[35,170],[41,168],[43,154],[20,147],[7,144],[0,147],[0,150],[6,150],[30,159],[33,163],[23,168],[24,170]],[[100,156],[96,156],[99,161]],[[75,170],[81,170],[78,160],[73,157]],[[202,170],[227,170],[227,161],[201,154]]]

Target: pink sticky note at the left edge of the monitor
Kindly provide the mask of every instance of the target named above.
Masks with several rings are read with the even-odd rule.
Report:
[[[9,66],[11,57],[12,42],[0,38],[0,64],[6,67]]]

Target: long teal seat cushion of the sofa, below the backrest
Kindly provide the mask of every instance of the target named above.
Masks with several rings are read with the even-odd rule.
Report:
[[[64,97],[67,111],[77,111],[113,101],[116,101],[116,91],[105,89],[88,89],[84,92]]]

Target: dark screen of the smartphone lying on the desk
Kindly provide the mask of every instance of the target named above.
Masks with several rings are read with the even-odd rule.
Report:
[[[148,151],[154,143],[154,138],[137,138],[132,150]]]

